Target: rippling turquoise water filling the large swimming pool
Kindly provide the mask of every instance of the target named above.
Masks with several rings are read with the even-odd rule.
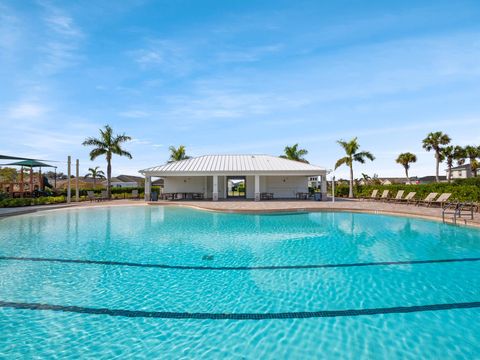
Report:
[[[353,213],[0,220],[0,358],[480,357],[480,231]]]

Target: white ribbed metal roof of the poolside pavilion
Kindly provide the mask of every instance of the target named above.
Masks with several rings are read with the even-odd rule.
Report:
[[[323,174],[324,168],[271,155],[204,155],[139,171],[149,176],[204,174]]]

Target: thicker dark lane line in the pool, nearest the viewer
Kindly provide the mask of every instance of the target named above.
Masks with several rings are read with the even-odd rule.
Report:
[[[87,308],[80,306],[61,306],[38,303],[17,303],[0,301],[0,308],[12,308],[17,310],[50,310],[68,313],[89,315],[109,315],[130,318],[160,318],[160,319],[196,319],[196,320],[271,320],[271,319],[306,319],[306,318],[331,318],[352,317],[381,314],[406,314],[425,311],[442,311],[453,309],[479,308],[480,301],[462,302],[450,304],[396,306],[389,308],[352,309],[352,310],[320,310],[284,313],[189,313],[189,312],[165,312],[165,311],[142,311],[121,310],[106,308]]]

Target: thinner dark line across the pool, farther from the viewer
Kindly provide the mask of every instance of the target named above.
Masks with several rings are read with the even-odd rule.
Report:
[[[91,265],[114,265],[131,266],[174,270],[219,270],[219,271],[249,271],[249,270],[294,270],[294,269],[321,269],[321,268],[343,268],[360,266],[388,266],[388,265],[416,265],[416,264],[434,264],[434,263],[455,263],[480,261],[480,258],[460,258],[460,259],[437,259],[437,260],[410,260],[410,261],[381,261],[350,264],[318,264],[318,265],[271,265],[271,266],[188,266],[188,265],[164,265],[164,264],[142,264],[121,261],[102,261],[102,260],[72,260],[56,258],[35,258],[35,257],[14,257],[0,256],[0,260],[11,261],[33,261],[33,262],[58,262],[67,264],[91,264]]]

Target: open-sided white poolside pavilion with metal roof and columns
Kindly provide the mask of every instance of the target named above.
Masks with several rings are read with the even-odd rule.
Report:
[[[326,196],[326,169],[269,155],[205,155],[140,171],[145,199],[151,199],[152,177],[164,179],[163,196],[170,200],[306,199],[308,179],[321,179]]]

